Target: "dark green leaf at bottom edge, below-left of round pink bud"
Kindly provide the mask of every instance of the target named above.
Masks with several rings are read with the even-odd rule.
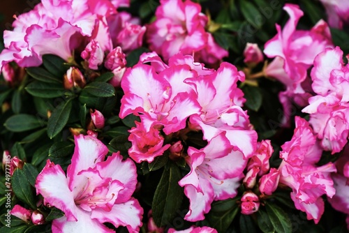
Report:
[[[207,220],[211,227],[218,232],[227,232],[228,227],[239,212],[237,205],[238,197],[224,201],[218,201],[211,204],[211,211],[207,214]]]

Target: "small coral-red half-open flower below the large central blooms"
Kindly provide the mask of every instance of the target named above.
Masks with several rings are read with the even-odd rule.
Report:
[[[162,156],[163,152],[171,146],[170,144],[163,145],[163,137],[158,129],[151,127],[147,131],[138,121],[135,121],[135,125],[131,130],[128,130],[130,132],[128,141],[132,143],[131,148],[128,149],[128,154],[136,163],[142,161],[151,163],[155,157]]]

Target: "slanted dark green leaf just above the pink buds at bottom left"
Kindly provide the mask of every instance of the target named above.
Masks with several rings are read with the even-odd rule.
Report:
[[[15,193],[15,196],[22,202],[28,204],[31,209],[36,209],[33,190],[31,190],[31,185],[27,180],[24,171],[16,169],[15,172],[13,172],[11,181],[13,193]]]

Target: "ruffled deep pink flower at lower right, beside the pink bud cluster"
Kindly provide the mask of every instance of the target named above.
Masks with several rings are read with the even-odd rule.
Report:
[[[297,209],[306,212],[308,220],[318,223],[324,212],[322,195],[333,197],[336,190],[331,172],[336,172],[333,163],[316,167],[321,149],[309,123],[295,118],[296,128],[292,140],[281,146],[283,158],[279,167],[279,183],[292,188],[291,198]]]

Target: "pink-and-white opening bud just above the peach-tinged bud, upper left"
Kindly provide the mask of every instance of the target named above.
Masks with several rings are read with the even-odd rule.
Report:
[[[82,51],[81,57],[88,61],[90,69],[98,70],[98,66],[103,63],[104,52],[97,41],[91,40]]]

